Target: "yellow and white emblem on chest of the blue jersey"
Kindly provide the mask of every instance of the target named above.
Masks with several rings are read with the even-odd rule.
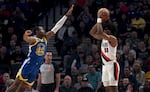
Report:
[[[45,53],[45,44],[39,43],[36,48],[36,54],[38,56],[43,56]]]

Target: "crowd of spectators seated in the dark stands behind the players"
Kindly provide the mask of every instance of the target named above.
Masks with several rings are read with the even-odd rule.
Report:
[[[41,11],[45,14],[53,6],[51,2],[46,1],[0,2],[1,84],[6,82],[4,78],[6,73],[14,78],[17,71],[12,72],[12,68],[18,69],[19,66],[16,64],[21,64],[26,57],[21,49],[22,34],[25,28],[32,27],[32,24],[40,19],[41,16],[38,15]],[[56,1],[61,2],[61,0]],[[65,84],[68,83],[70,86],[68,92],[77,92],[75,89],[79,90],[83,85],[97,92],[104,92],[99,55],[101,42],[92,38],[89,31],[96,22],[98,8],[107,7],[111,13],[111,21],[117,27],[116,37],[119,41],[117,50],[117,60],[121,69],[119,92],[149,92],[150,1],[64,0],[61,4],[67,8],[72,2],[75,4],[73,14],[57,33],[54,45],[62,58],[60,65],[63,67],[62,73],[67,75],[60,89],[64,90]],[[49,6],[48,3],[51,5]],[[81,90],[79,92],[83,92]]]

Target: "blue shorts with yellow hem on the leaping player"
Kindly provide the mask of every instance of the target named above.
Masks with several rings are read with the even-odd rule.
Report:
[[[22,67],[19,69],[16,78],[24,81],[27,85],[32,86],[37,79],[40,65],[26,60]]]

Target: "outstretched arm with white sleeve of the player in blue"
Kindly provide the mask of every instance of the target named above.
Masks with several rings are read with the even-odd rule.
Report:
[[[51,31],[46,33],[47,40],[49,40],[52,36],[54,36],[57,33],[57,31],[64,25],[68,16],[72,14],[73,7],[74,5],[70,7],[68,12],[55,24],[55,26],[51,29]]]

